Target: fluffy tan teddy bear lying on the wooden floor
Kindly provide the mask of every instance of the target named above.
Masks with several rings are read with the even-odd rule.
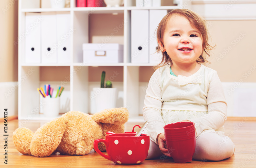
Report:
[[[17,128],[13,143],[20,153],[34,157],[48,157],[57,152],[84,155],[93,149],[95,139],[105,139],[106,132],[124,133],[128,118],[126,108],[105,109],[93,115],[69,111],[42,125],[35,134],[28,128]],[[103,143],[98,147],[106,150]]]

